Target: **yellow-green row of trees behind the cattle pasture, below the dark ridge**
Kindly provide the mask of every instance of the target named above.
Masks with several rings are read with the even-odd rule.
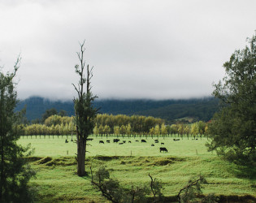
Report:
[[[188,137],[206,135],[208,124],[199,121],[196,123],[176,123],[167,125],[163,119],[152,116],[98,114],[94,119],[93,135],[96,136],[167,136],[178,135]],[[20,125],[21,136],[68,136],[75,129],[73,117],[51,115],[44,123]]]

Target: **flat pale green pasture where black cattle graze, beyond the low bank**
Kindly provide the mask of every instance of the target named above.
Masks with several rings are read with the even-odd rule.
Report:
[[[198,138],[198,140],[192,140],[192,138],[180,138],[179,141],[173,141],[173,137],[141,137],[141,138],[128,138],[119,137],[120,142],[126,141],[125,144],[119,145],[113,143],[113,139],[116,137],[95,137],[92,136],[92,141],[89,141],[87,150],[88,156],[179,156],[179,157],[215,157],[214,153],[207,152],[206,138]],[[65,140],[68,143],[65,143]],[[20,145],[28,145],[31,143],[32,148],[35,149],[33,156],[37,157],[59,157],[59,156],[74,156],[76,153],[76,143],[71,141],[71,136],[24,136],[19,140]],[[146,143],[141,143],[141,139],[146,140]],[[154,143],[154,140],[158,139],[159,143]],[[176,137],[177,139],[177,137]],[[75,140],[73,138],[73,140]],[[103,140],[104,144],[99,144],[99,141]],[[106,140],[111,140],[111,143],[106,143]],[[136,140],[139,140],[138,142]],[[128,143],[131,141],[131,143]],[[161,145],[164,143],[164,145]],[[151,146],[154,144],[154,146]],[[166,147],[168,153],[160,153],[159,147]]]

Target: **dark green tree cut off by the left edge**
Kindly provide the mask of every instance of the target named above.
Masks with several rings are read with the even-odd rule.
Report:
[[[15,63],[13,73],[4,75],[0,72],[0,202],[30,202],[32,192],[28,181],[34,175],[25,162],[24,148],[16,144],[22,130],[22,114],[15,113],[17,103],[13,78],[20,65],[20,58]]]

